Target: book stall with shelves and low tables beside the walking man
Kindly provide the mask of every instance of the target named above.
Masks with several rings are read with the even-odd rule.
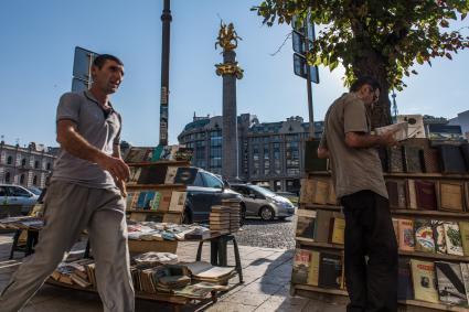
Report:
[[[154,157],[159,154],[160,157]],[[237,244],[232,233],[239,229],[239,202],[223,201],[212,206],[210,224],[182,224],[186,185],[196,169],[190,166],[191,151],[178,146],[132,148],[125,155],[130,168],[127,183],[127,232],[131,256],[131,276],[136,298],[164,301],[179,311],[184,304],[212,300],[217,292],[230,291],[228,280],[243,282]],[[0,219],[0,228],[40,230],[41,217]],[[227,241],[235,249],[234,267],[227,266]],[[194,261],[179,261],[179,241],[199,241]],[[202,246],[211,245],[211,262],[202,261]],[[68,257],[47,280],[65,288],[96,291],[93,244],[85,256]]]

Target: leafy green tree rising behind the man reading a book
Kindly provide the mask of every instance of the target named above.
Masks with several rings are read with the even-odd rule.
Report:
[[[309,17],[321,30],[307,57],[310,64],[333,71],[345,68],[344,84],[364,75],[382,85],[372,126],[391,123],[391,89],[407,85],[404,76],[417,74],[415,63],[431,66],[431,58],[469,47],[469,36],[449,31],[449,21],[462,21],[467,0],[266,0],[252,8],[271,26]],[[466,28],[465,28],[466,29]]]

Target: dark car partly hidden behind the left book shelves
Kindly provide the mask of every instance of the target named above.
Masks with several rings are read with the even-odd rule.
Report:
[[[212,205],[220,205],[222,200],[237,198],[241,201],[242,222],[245,218],[246,205],[239,193],[230,189],[215,174],[198,168],[195,180],[188,185],[185,201],[184,223],[207,222]]]

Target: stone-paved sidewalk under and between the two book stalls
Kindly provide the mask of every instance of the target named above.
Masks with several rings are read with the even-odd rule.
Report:
[[[77,245],[78,246],[78,245]],[[82,244],[83,246],[83,244]],[[182,243],[178,247],[180,260],[194,260],[198,244]],[[21,252],[9,260],[11,235],[0,235],[0,290],[21,262]],[[82,248],[82,247],[79,247]],[[228,246],[228,265],[234,265],[232,246]],[[209,260],[210,246],[203,248],[203,259]],[[247,311],[345,311],[342,304],[289,295],[292,250],[239,246],[244,283],[221,293],[216,303],[210,300],[184,306],[182,311],[247,312]],[[237,283],[237,278],[230,281]],[[171,306],[148,300],[137,300],[136,311],[171,311]],[[23,309],[24,312],[98,312],[103,311],[96,293],[76,291],[44,284]]]

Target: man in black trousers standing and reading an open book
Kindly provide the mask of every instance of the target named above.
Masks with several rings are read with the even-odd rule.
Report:
[[[318,148],[329,158],[345,215],[349,312],[397,311],[397,244],[375,147],[394,146],[394,131],[371,135],[369,111],[380,97],[371,77],[355,80],[329,108]],[[367,260],[366,258],[367,257]]]

